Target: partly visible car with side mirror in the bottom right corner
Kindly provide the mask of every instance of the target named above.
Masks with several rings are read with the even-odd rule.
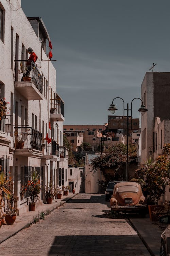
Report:
[[[169,224],[161,235],[160,255],[170,256],[170,215],[160,217],[159,221]]]

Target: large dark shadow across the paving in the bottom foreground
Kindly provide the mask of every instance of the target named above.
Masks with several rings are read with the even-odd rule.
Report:
[[[56,236],[48,255],[124,256],[143,255],[137,235]]]

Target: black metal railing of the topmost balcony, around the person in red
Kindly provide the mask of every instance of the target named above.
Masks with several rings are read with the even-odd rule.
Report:
[[[23,76],[30,77],[31,81],[38,89],[38,91],[42,94],[43,93],[43,77],[41,76],[39,70],[35,66],[32,60],[15,60],[16,62],[16,72],[15,81],[19,82],[22,81]],[[19,63],[20,62],[20,63]]]

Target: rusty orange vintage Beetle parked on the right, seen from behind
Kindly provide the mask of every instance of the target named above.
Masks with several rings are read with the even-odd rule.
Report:
[[[140,184],[132,181],[118,182],[114,185],[110,199],[111,210],[117,212],[138,212],[145,217],[147,204]]]

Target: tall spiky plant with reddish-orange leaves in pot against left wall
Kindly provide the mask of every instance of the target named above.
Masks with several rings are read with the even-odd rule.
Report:
[[[39,199],[39,193],[41,191],[40,177],[37,171],[33,171],[31,179],[27,182],[27,190],[29,195],[29,211],[35,211],[35,203]]]

